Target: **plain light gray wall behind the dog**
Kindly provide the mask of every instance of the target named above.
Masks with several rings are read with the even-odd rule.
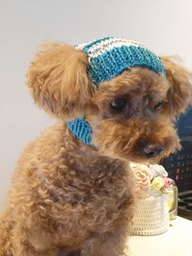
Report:
[[[120,36],[180,55],[192,70],[191,0],[0,0],[0,19],[0,209],[20,151],[53,122],[25,86],[38,42]]]

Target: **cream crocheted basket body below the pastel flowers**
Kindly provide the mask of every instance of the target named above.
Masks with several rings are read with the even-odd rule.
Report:
[[[133,217],[133,235],[159,235],[167,232],[168,227],[168,197],[166,194],[149,195],[138,199]]]

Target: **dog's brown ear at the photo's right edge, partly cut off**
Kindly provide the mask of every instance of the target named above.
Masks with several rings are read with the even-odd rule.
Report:
[[[166,69],[170,88],[168,90],[168,113],[178,117],[185,113],[186,108],[192,104],[191,74],[172,61],[171,57],[162,57]]]

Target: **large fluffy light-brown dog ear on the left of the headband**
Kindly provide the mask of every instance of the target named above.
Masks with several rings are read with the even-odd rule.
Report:
[[[87,55],[73,46],[42,43],[27,73],[35,102],[55,117],[81,117],[93,90],[87,65]]]

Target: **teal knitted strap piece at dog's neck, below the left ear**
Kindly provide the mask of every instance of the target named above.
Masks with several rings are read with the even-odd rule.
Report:
[[[72,121],[67,121],[67,126],[77,139],[85,144],[91,144],[91,126],[84,118],[76,118]]]

